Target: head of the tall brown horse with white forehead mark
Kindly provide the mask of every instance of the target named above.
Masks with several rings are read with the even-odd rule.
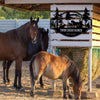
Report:
[[[37,20],[33,20],[32,17],[30,18],[30,37],[33,44],[35,44],[37,40],[38,22],[39,18],[37,18]]]

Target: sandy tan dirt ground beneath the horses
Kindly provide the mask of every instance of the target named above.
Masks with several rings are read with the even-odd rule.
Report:
[[[42,89],[39,83],[37,83],[35,97],[32,98],[30,96],[31,84],[29,62],[23,62],[22,67],[22,86],[24,87],[25,91],[18,91],[13,87],[15,63],[12,64],[9,72],[10,84],[6,85],[3,83],[2,62],[0,62],[0,66],[0,100],[63,100],[62,81],[56,80],[56,92],[54,93],[54,96],[52,96],[50,93],[48,94],[48,90],[51,90],[52,88],[52,80],[49,80],[46,77],[43,77],[44,88]],[[93,91],[97,91],[100,95],[100,89],[96,88],[96,83],[100,83],[100,78],[93,81]],[[87,85],[83,87],[83,90],[87,90]],[[73,94],[72,89],[70,91]],[[95,100],[100,100],[100,97],[96,98]]]

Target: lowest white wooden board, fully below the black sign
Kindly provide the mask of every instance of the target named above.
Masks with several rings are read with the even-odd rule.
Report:
[[[56,47],[91,47],[91,41],[50,41],[51,46]]]

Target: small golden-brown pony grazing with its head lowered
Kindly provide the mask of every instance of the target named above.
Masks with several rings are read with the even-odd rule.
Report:
[[[66,98],[66,81],[69,77],[73,79],[73,91],[76,99],[81,96],[82,79],[79,69],[68,57],[60,57],[42,51],[32,57],[30,63],[31,74],[31,96],[34,96],[35,83],[41,75],[49,79],[62,79],[63,97]]]

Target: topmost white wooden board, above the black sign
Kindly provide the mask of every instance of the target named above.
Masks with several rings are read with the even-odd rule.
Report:
[[[51,11],[55,11],[56,8],[59,10],[84,10],[87,8],[88,10],[93,10],[93,5],[51,5]]]

